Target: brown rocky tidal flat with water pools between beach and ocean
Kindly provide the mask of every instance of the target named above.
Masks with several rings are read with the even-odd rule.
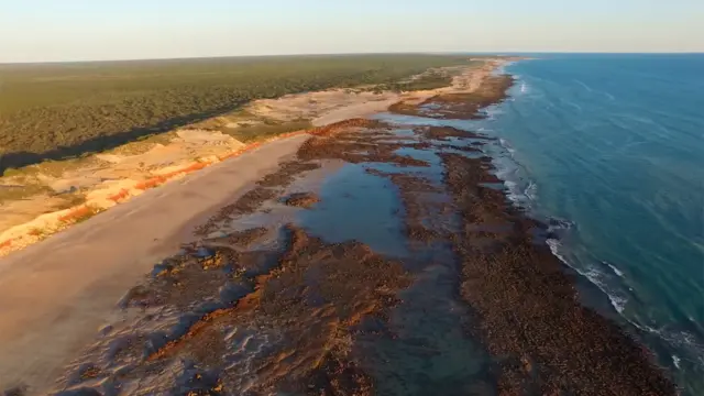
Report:
[[[495,81],[414,116],[477,117],[504,97]],[[483,151],[495,141],[386,120],[292,143],[294,157],[199,217],[190,243],[121,283],[109,326],[66,319],[78,352],[44,384],[64,395],[675,394],[641,345],[580,304],[547,227],[507,201]]]

